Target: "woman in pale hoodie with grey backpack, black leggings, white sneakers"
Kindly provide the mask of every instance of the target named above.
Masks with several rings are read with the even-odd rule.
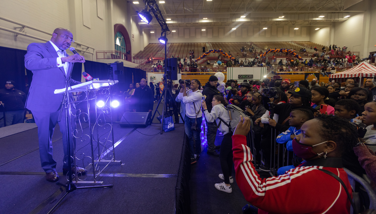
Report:
[[[221,95],[214,95],[212,100],[212,110],[209,113],[208,107],[206,106],[205,101],[202,101],[202,107],[204,109],[205,118],[208,122],[216,121],[217,124],[220,124],[218,129],[223,133],[223,140],[221,143],[221,151],[219,154],[219,160],[221,163],[222,173],[218,176],[224,180],[222,183],[214,184],[214,187],[217,190],[224,191],[226,193],[231,193],[231,183],[233,183],[232,177],[232,131],[230,128],[225,124],[230,123],[230,116],[225,108],[227,106],[226,102],[224,101],[223,96]],[[223,121],[221,121],[221,118]]]

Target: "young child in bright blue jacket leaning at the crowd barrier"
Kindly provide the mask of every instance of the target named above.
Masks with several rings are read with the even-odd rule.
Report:
[[[287,151],[293,151],[293,139],[295,136],[300,134],[300,128],[302,125],[311,119],[313,119],[313,113],[306,109],[294,109],[290,112],[290,120],[288,124],[290,128],[287,131],[280,133],[277,136],[277,143],[283,144],[286,143]],[[290,169],[294,169],[295,167],[299,166],[302,163],[302,158],[297,157],[294,155],[293,157],[293,165],[280,167],[278,169],[278,175],[283,175]]]

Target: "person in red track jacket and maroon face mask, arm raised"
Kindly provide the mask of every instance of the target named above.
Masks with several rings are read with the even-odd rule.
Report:
[[[350,213],[344,187],[319,169],[338,176],[351,195],[341,156],[358,143],[354,125],[328,115],[305,122],[292,145],[294,153],[306,162],[284,175],[264,179],[251,162],[252,150],[246,140],[249,130],[250,120],[241,118],[232,136],[233,161],[237,184],[246,200],[258,207],[258,213]],[[302,199],[303,203],[294,203]]]

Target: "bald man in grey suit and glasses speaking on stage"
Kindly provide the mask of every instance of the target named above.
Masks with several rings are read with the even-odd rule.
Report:
[[[69,79],[71,67],[74,62],[85,62],[85,58],[78,54],[68,56],[65,52],[74,42],[73,35],[68,29],[57,28],[52,34],[50,41],[46,43],[32,43],[27,46],[25,55],[25,67],[33,72],[33,79],[30,85],[29,95],[26,100],[26,108],[33,112],[35,123],[38,126],[39,154],[41,165],[46,172],[46,179],[50,182],[58,181],[59,175],[56,172],[56,161],[52,157],[52,135],[56,123],[59,123],[62,133],[64,160],[63,174],[66,175],[69,167],[72,173],[86,173],[80,167],[68,166],[67,131],[65,125],[65,111],[61,121],[58,121],[60,109],[62,108],[62,94],[54,94],[55,89],[65,88],[66,82],[70,85],[80,82]],[[70,99],[73,99],[69,93]],[[74,106],[71,106],[75,114]],[[76,118],[71,116],[68,127],[76,129]],[[71,155],[73,156],[73,144],[75,140],[71,137]],[[74,143],[73,143],[74,142]],[[72,161],[73,163],[73,161]]]

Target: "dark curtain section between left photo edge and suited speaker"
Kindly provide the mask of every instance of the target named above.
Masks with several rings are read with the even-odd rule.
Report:
[[[28,92],[25,75],[26,50],[0,47],[0,89],[5,87],[5,81],[13,80],[16,88]],[[30,82],[29,82],[30,84]]]

